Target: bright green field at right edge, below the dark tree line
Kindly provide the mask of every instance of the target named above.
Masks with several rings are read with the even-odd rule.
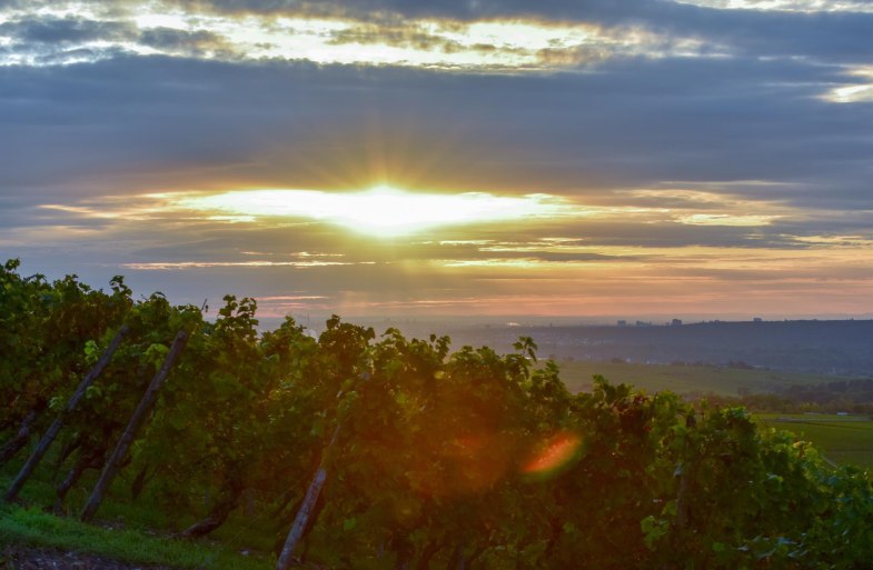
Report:
[[[861,416],[758,413],[762,426],[791,431],[811,441],[834,463],[873,468],[873,421]]]

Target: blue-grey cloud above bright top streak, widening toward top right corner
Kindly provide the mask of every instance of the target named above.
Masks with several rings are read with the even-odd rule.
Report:
[[[563,22],[597,22],[603,26],[636,26],[679,38],[698,38],[731,46],[747,56],[807,56],[815,59],[865,62],[866,38],[873,13],[866,2],[829,2],[825,10],[812,10],[821,2],[785,0],[767,2],[797,11],[723,10],[724,2],[672,2],[655,0],[479,0],[476,2],[368,0],[364,2],[211,1],[201,6],[228,13],[334,13],[360,19],[443,18],[474,21],[494,18],[535,18]],[[696,4],[696,6],[694,6]],[[863,11],[862,11],[863,9]]]

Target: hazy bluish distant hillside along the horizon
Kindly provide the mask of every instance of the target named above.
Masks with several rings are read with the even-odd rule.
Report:
[[[446,333],[456,344],[506,350],[518,337],[532,337],[543,354],[558,360],[696,362],[846,377],[865,377],[873,371],[873,320],[470,326],[447,327]]]

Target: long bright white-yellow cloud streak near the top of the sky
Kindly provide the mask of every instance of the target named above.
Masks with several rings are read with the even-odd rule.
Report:
[[[0,63],[93,62],[127,53],[520,73],[586,67],[632,54],[692,56],[713,50],[694,38],[672,39],[639,27],[608,28],[586,21],[462,21],[401,14],[319,19],[294,11],[282,16],[210,13],[190,4],[160,11],[146,3],[128,4],[128,11],[93,10],[87,13],[89,20],[69,16],[70,7],[79,4],[43,7],[39,17],[10,12],[0,37],[6,36],[11,48]],[[76,60],[65,57],[72,50],[78,52]]]

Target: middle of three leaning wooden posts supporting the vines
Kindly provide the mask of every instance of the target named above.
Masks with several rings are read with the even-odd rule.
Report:
[[[88,499],[88,503],[82,510],[82,521],[90,521],[97,512],[97,509],[100,507],[100,502],[103,500],[103,493],[118,473],[119,463],[121,463],[121,460],[125,458],[128,450],[130,449],[130,446],[133,443],[139,428],[146,420],[146,416],[155,404],[155,400],[158,399],[158,391],[163,384],[163,381],[167,379],[167,376],[170,373],[170,369],[176,361],[176,357],[179,356],[179,352],[181,352],[181,350],[185,348],[185,343],[187,341],[188,334],[185,331],[179,331],[179,333],[176,334],[176,340],[172,341],[172,347],[170,347],[167,358],[163,359],[163,364],[160,367],[160,370],[158,370],[158,373],[155,374],[155,378],[151,379],[151,383],[146,390],[146,393],[142,396],[142,399],[139,401],[139,406],[137,406],[137,409],[130,417],[130,421],[128,422],[127,429],[125,429],[125,433],[121,434],[121,439],[118,440],[115,451],[112,451],[112,454],[109,457],[106,466],[103,466],[103,472],[100,473],[100,479],[98,479],[93,491],[91,491],[91,497]]]

